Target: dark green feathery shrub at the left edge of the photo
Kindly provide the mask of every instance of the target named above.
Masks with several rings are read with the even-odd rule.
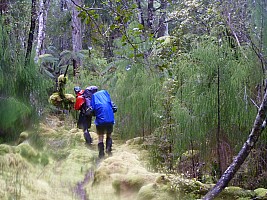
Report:
[[[21,131],[37,119],[49,85],[33,63],[24,66],[21,48],[11,46],[8,27],[0,18],[0,132],[6,140],[16,140]]]

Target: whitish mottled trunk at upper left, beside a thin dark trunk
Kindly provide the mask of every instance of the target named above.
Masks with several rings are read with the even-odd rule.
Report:
[[[38,38],[36,46],[36,55],[34,61],[37,63],[40,55],[44,54],[44,40],[46,31],[47,13],[50,0],[40,0],[40,14],[38,23]]]

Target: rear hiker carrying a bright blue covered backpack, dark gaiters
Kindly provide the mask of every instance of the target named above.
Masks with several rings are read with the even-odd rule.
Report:
[[[115,124],[114,113],[117,111],[116,105],[111,101],[106,90],[100,90],[92,95],[91,109],[95,116],[96,132],[98,135],[99,158],[105,156],[104,135],[106,134],[106,153],[111,155],[113,125]]]

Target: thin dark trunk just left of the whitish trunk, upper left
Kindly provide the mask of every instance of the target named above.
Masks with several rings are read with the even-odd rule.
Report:
[[[36,24],[36,0],[32,0],[31,26],[30,26],[28,46],[25,56],[25,65],[29,63],[31,57],[35,24]]]

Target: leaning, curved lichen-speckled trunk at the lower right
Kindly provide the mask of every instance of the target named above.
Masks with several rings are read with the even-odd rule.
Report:
[[[267,112],[267,92],[264,95],[261,106],[258,110],[258,114],[254,121],[251,133],[244,143],[242,149],[238,155],[234,158],[232,164],[225,170],[224,174],[221,176],[217,184],[203,197],[203,200],[214,199],[220,194],[220,192],[228,185],[230,180],[234,177],[235,173],[238,171],[240,166],[243,164],[247,156],[249,155],[252,148],[255,147],[262,131],[266,125],[266,112]]]

